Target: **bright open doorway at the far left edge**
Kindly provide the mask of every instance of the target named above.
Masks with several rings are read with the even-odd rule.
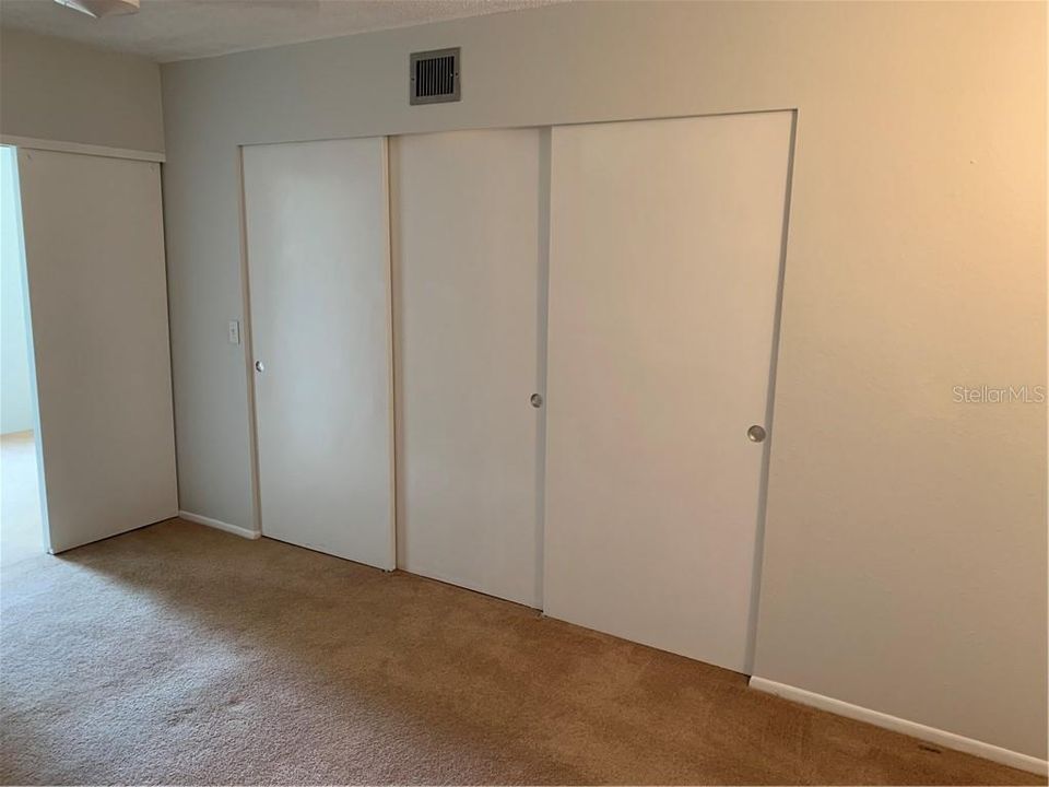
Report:
[[[15,149],[0,146],[0,564],[46,550]]]

